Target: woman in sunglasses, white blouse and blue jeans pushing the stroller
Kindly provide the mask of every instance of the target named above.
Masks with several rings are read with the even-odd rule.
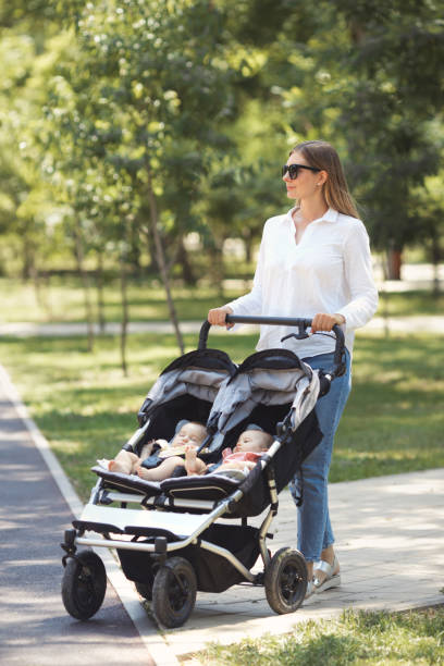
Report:
[[[312,368],[333,362],[334,324],[344,328],[346,372],[336,379],[316,410],[323,439],[291,484],[298,507],[298,548],[306,558],[307,596],[341,583],[340,563],[328,507],[328,477],[334,433],[350,390],[355,329],[378,307],[369,237],[358,219],[335,149],[326,141],[304,141],[293,148],[282,170],[287,197],[296,206],[267,221],[249,294],[209,311],[208,321],[225,325],[226,313],[312,319],[311,335],[285,342]],[[231,328],[231,326],[227,326]],[[285,326],[262,325],[257,349],[282,346]]]

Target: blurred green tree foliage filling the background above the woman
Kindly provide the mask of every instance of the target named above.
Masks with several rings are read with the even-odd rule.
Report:
[[[346,163],[373,244],[427,244],[439,260],[440,10],[429,0],[0,2],[0,233],[16,234],[25,274],[79,237],[87,259],[149,264],[152,195],[169,268],[187,263],[189,231],[212,268],[226,237],[250,250],[263,220],[285,209],[289,146],[322,137]]]

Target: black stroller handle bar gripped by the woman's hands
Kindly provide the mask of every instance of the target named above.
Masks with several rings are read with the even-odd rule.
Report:
[[[311,326],[311,319],[301,319],[298,317],[250,317],[250,316],[242,316],[242,314],[226,314],[225,317],[226,323],[250,323],[250,324],[271,324],[271,325],[281,325],[281,326],[295,326],[297,328],[297,333],[292,333],[296,338],[301,340],[304,337],[308,337],[306,332],[307,329]],[[208,333],[211,329],[211,324],[209,321],[205,321],[200,328],[199,334],[199,346],[198,349],[207,348],[207,340]],[[345,338],[344,333],[338,324],[334,324],[332,331],[335,334],[336,342],[334,348],[334,367],[329,370],[329,374],[333,377],[341,377],[341,374],[345,371],[344,366],[344,348],[345,348]],[[285,338],[283,338],[285,340]]]

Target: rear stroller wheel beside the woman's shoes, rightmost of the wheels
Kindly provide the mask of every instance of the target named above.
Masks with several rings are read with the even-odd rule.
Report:
[[[297,610],[307,589],[304,556],[292,548],[278,551],[266,569],[264,587],[267,601],[275,613]]]

